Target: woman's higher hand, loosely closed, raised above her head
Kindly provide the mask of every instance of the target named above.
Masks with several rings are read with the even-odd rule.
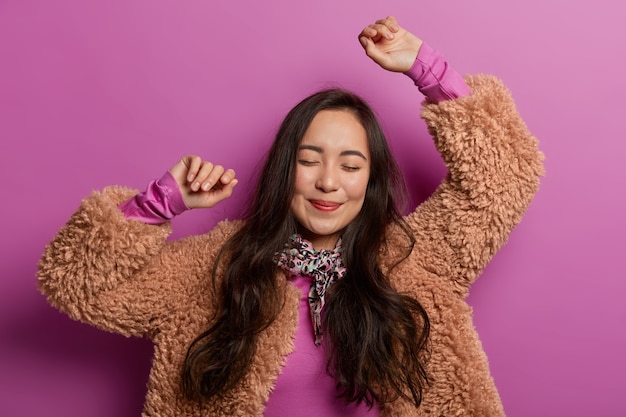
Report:
[[[407,72],[413,66],[422,40],[400,27],[393,16],[377,20],[359,33],[367,56],[388,71]]]

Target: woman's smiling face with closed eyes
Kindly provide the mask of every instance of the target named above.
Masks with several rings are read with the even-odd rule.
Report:
[[[354,114],[322,110],[297,152],[291,212],[316,250],[333,249],[359,213],[370,176],[365,129]]]

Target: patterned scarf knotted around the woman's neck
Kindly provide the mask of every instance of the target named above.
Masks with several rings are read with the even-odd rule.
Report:
[[[295,234],[285,243],[282,252],[276,254],[276,264],[291,275],[313,278],[309,289],[309,308],[315,331],[315,344],[322,344],[321,312],[326,290],[343,277],[346,267],[341,257],[341,239],[333,250],[316,251],[302,236]]]

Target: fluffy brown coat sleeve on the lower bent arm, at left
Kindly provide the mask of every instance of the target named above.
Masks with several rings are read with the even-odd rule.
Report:
[[[166,241],[169,223],[128,220],[119,210],[135,193],[108,187],[84,199],[46,246],[38,284],[50,304],[73,319],[126,336],[154,337],[163,326],[175,325],[173,316],[184,316],[184,300],[210,303],[207,291],[189,293],[210,280],[207,259],[221,247],[211,244],[221,228]]]

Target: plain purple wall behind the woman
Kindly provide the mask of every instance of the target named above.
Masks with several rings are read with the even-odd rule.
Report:
[[[445,173],[407,78],[371,63],[389,14],[462,73],[510,87],[547,176],[471,304],[509,416],[626,413],[626,35],[618,1],[0,1],[0,415],[137,416],[148,341],[73,322],[36,289],[81,198],[142,189],[185,153],[231,166],[236,195],[175,220],[236,217],[272,134],[327,86],[367,98],[423,200]],[[622,17],[620,17],[622,16]]]

